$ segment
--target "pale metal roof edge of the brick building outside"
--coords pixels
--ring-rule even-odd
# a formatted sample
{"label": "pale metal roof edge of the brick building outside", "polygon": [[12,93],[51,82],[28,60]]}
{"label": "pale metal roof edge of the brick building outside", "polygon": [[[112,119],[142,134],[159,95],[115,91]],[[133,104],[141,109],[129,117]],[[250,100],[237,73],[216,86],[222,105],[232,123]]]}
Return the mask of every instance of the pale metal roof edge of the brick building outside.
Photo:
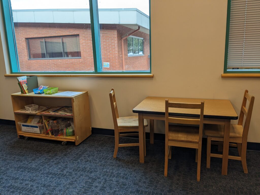
{"label": "pale metal roof edge of the brick building outside", "polygon": [[[14,22],[90,23],[89,9],[12,10]],[[136,8],[99,9],[101,24],[134,24],[149,29],[149,16]]]}

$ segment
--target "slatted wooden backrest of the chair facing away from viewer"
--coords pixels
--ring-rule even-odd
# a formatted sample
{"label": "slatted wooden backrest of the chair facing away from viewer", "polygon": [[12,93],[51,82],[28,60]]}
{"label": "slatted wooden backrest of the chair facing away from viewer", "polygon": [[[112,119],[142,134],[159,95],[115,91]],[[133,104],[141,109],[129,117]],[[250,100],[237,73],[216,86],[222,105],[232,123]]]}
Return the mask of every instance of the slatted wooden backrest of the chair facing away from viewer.
{"label": "slatted wooden backrest of the chair facing away from viewer", "polygon": [[[185,108],[185,109],[200,109],[199,119],[189,119],[189,118],[174,118],[169,116],[169,108]],[[168,99],[165,100],[165,136],[168,136],[169,122],[186,124],[186,125],[199,125],[199,143],[202,142],[202,132],[203,132],[203,115],[204,115],[204,101],[200,103],[180,103],[180,102],[169,102]]]}

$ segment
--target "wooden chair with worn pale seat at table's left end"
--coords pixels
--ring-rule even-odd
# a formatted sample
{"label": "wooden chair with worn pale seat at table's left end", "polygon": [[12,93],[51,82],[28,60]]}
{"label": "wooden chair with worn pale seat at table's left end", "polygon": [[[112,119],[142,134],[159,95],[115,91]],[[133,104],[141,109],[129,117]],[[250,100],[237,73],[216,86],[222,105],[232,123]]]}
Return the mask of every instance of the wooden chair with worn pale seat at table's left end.
{"label": "wooden chair with worn pale seat at table's left end", "polygon": [[[114,129],[115,129],[115,151],[114,151],[114,158],[116,158],[116,154],[118,152],[118,147],[126,147],[126,146],[139,146],[139,143],[131,143],[131,144],[119,144],[119,137],[122,136],[136,136],[139,133],[125,133],[125,132],[139,132],[138,129],[138,116],[126,116],[126,117],[119,117],[116,99],[115,99],[115,90],[114,88],[111,89],[112,91],[109,93],[110,97],[110,104],[112,109],[112,116],[114,121]],[[147,120],[144,119],[144,146],[145,146],[145,127],[147,127]],[[123,134],[120,134],[123,132]],[[145,147],[145,155],[146,155],[146,147]]]}

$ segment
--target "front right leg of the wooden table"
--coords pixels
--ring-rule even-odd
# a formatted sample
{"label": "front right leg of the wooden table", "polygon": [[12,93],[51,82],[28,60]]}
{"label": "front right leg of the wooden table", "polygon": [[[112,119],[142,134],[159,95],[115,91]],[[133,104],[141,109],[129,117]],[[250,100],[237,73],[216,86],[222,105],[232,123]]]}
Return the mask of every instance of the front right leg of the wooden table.
{"label": "front right leg of the wooden table", "polygon": [[226,120],[224,126],[222,175],[228,174],[229,132],[230,132],[230,120]]}

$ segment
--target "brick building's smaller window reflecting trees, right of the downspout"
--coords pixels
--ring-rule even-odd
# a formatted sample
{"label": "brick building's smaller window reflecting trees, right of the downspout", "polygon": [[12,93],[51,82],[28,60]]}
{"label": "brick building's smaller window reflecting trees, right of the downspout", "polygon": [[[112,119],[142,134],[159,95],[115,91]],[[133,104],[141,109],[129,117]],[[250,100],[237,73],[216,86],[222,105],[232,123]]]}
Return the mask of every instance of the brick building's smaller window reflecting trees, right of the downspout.
{"label": "brick building's smaller window reflecting trees, right of the downspout", "polygon": [[144,55],[144,38],[129,36],[127,37],[128,56]]}

